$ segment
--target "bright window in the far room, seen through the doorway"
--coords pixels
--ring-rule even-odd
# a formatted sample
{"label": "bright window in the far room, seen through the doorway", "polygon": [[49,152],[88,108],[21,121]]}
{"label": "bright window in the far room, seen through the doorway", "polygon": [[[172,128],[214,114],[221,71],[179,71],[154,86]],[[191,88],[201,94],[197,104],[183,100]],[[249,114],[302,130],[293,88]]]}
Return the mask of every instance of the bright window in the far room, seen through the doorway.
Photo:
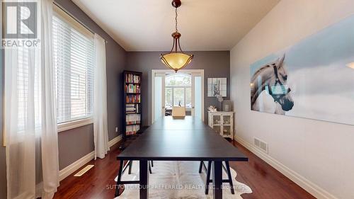
{"label": "bright window in the far room, seen through the doorway", "polygon": [[170,74],[166,76],[166,108],[172,106],[185,106],[192,108],[190,74]]}

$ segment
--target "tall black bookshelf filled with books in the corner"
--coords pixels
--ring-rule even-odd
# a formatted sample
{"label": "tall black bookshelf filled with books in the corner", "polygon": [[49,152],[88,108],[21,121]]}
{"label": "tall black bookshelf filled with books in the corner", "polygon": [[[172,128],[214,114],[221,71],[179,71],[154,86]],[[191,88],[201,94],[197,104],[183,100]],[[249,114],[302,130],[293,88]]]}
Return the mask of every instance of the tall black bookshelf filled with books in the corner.
{"label": "tall black bookshelf filled with books in the corner", "polygon": [[142,73],[123,72],[123,141],[134,137],[142,129]]}

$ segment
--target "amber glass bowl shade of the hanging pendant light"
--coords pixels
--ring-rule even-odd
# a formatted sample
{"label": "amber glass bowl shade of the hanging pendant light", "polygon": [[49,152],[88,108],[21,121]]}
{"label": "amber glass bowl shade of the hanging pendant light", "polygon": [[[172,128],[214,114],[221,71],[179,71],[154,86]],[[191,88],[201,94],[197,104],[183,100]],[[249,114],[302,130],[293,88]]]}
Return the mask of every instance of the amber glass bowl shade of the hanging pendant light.
{"label": "amber glass bowl shade of the hanging pendant light", "polygon": [[193,55],[186,55],[184,53],[172,52],[166,55],[161,55],[161,62],[177,72],[190,63]]}

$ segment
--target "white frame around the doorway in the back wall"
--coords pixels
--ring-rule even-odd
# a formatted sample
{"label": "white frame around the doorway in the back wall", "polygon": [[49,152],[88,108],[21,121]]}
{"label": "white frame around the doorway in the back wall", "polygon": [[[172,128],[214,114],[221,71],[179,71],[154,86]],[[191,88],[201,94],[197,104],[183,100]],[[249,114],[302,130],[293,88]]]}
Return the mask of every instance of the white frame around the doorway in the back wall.
{"label": "white frame around the doorway in the back wall", "polygon": [[[169,70],[169,69],[152,69],[152,123],[154,123],[154,115],[155,115],[155,76],[156,74],[173,74],[174,71],[173,70]],[[187,73],[187,74],[200,74],[200,76],[202,77],[202,121],[204,122],[204,101],[205,101],[205,96],[204,96],[204,69],[181,69],[178,70],[177,73]],[[192,80],[194,81],[194,80]],[[162,84],[165,84],[165,82],[163,82]],[[192,88],[194,89],[194,88]],[[164,93],[164,92],[163,92]],[[163,96],[164,98],[164,96]],[[164,101],[163,101],[164,103]],[[194,106],[194,102],[193,102],[193,106]]]}

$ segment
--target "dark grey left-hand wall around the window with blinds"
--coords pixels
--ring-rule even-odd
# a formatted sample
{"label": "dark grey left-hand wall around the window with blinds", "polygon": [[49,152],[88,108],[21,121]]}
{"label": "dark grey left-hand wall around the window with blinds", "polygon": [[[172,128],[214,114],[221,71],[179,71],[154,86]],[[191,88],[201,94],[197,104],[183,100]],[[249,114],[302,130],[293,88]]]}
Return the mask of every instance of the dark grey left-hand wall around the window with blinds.
{"label": "dark grey left-hand wall around the window with blinds", "polygon": [[[70,0],[55,0],[67,9],[81,23],[87,25],[93,32],[98,33],[106,43],[107,61],[107,109],[108,109],[108,137],[112,140],[122,130],[122,112],[120,105],[122,97],[122,71],[125,67],[126,52],[110,35],[105,33],[94,21]],[[115,132],[118,127],[118,133]],[[79,127],[65,132],[59,132],[59,169],[64,169],[74,161],[93,151],[93,127]]]}

